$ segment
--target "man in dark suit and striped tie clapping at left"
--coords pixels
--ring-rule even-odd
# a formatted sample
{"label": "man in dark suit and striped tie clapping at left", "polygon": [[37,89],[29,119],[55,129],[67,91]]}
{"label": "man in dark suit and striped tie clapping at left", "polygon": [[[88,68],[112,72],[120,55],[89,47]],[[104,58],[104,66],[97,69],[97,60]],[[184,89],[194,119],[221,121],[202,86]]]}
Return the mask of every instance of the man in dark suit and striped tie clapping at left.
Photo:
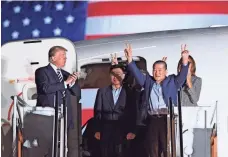
{"label": "man in dark suit and striped tie clapping at left", "polygon": [[[76,157],[76,139],[77,134],[75,134],[76,126],[74,126],[73,113],[76,114],[76,111],[73,112],[71,106],[71,95],[80,96],[79,85],[75,82],[78,77],[78,73],[70,74],[62,68],[66,63],[66,49],[61,46],[54,46],[49,50],[49,64],[45,67],[38,68],[35,72],[35,83],[37,86],[37,106],[41,107],[54,107],[55,105],[55,95],[56,92],[59,94],[59,105],[63,104],[63,98],[67,102],[67,133],[68,133],[68,156]],[[34,115],[32,115],[34,116]],[[47,124],[46,128],[44,127],[45,116],[35,115],[34,125],[36,124],[36,130],[27,131],[27,134],[36,135],[38,138],[37,147],[28,149],[30,152],[28,156],[50,156],[52,150],[52,130],[49,126],[53,124]],[[47,119],[47,118],[46,118]],[[53,122],[53,120],[52,120]],[[25,122],[26,125],[29,125],[29,121]],[[42,125],[43,124],[43,125]],[[34,128],[34,127],[33,127]],[[30,128],[32,129],[32,128]],[[46,130],[45,129],[49,129]],[[32,137],[30,135],[30,137]]]}

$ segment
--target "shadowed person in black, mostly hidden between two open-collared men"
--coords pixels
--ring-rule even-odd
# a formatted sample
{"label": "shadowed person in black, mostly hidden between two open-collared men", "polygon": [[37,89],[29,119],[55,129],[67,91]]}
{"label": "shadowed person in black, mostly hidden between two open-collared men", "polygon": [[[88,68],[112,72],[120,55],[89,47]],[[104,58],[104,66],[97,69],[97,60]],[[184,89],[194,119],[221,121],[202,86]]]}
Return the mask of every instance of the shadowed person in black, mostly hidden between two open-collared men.
{"label": "shadowed person in black, mostly hidden between two open-collared men", "polygon": [[[111,55],[112,58],[112,65],[118,64],[117,55]],[[126,65],[125,65],[126,66]],[[137,65],[140,67],[140,65]],[[140,69],[143,73],[145,71]],[[125,116],[124,119],[126,124],[128,124],[127,132],[131,132],[135,138],[133,140],[127,140],[124,144],[124,157],[145,157],[143,151],[143,127],[141,126],[141,122],[137,121],[138,109],[139,104],[141,101],[141,93],[142,87],[136,82],[134,76],[131,74],[130,71],[126,71],[126,76],[123,80],[123,87],[126,90],[126,107],[125,107]],[[137,134],[137,136],[136,136]],[[128,139],[128,137],[127,137]]]}

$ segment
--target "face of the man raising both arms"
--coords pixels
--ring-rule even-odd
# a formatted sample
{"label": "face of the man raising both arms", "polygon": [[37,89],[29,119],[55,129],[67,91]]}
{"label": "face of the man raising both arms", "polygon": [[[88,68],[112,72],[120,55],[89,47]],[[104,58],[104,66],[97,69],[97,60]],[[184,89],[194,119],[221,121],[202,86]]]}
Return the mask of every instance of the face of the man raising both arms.
{"label": "face of the man raising both arms", "polygon": [[161,82],[165,79],[167,74],[167,70],[165,69],[165,65],[162,63],[155,64],[153,69],[153,77],[157,82]]}

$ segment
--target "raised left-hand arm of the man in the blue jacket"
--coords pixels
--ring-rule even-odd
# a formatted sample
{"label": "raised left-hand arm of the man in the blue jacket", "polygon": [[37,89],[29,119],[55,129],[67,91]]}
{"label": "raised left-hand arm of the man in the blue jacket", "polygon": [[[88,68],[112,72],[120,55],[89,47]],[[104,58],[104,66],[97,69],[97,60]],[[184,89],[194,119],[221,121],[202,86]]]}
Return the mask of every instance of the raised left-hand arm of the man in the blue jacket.
{"label": "raised left-hand arm of the man in the blue jacket", "polygon": [[146,76],[143,75],[143,73],[138,69],[135,62],[133,61],[132,48],[130,44],[126,44],[126,49],[124,50],[124,52],[128,62],[128,70],[133,74],[138,84],[143,87],[146,81]]}

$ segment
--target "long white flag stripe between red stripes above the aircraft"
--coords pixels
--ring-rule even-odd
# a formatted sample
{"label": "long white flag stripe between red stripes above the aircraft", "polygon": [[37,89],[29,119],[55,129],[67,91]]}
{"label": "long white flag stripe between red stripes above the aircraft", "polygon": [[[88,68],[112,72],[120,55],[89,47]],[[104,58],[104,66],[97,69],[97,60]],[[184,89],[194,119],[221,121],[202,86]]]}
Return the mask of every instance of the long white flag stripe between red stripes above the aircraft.
{"label": "long white flag stripe between red stripes above the aircraft", "polygon": [[228,15],[127,15],[88,17],[86,35],[130,34],[228,25]]}

